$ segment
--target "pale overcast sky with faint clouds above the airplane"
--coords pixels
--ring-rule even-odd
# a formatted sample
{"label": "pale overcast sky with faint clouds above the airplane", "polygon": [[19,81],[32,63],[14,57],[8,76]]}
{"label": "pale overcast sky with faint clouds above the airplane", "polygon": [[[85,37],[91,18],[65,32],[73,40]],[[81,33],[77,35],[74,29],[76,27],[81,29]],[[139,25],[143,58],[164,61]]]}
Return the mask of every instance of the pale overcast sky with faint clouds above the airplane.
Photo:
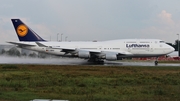
{"label": "pale overcast sky with faint clouds above the airplane", "polygon": [[70,41],[153,38],[174,43],[180,0],[0,0],[0,44],[18,41],[19,18],[43,39]]}

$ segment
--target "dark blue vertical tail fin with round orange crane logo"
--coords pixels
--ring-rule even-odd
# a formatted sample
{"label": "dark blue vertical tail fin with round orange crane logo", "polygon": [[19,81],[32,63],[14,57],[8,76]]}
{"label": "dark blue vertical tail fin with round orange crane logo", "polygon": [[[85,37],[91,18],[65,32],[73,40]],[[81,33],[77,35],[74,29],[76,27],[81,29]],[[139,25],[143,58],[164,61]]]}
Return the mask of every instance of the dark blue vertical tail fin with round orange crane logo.
{"label": "dark blue vertical tail fin with round orange crane logo", "polygon": [[11,19],[19,41],[45,41],[20,19]]}

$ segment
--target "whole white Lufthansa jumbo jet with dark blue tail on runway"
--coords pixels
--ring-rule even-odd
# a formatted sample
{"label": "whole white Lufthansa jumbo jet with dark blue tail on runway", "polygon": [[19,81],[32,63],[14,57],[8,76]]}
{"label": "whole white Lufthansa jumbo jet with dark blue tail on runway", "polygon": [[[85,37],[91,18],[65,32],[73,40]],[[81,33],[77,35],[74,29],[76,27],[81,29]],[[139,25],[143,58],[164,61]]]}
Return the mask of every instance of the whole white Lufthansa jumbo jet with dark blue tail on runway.
{"label": "whole white Lufthansa jumbo jet with dark blue tail on runway", "polygon": [[[20,19],[12,19],[18,42],[8,42],[19,48],[62,57],[78,57],[94,63],[132,57],[159,57],[174,48],[159,39],[119,39],[101,42],[49,42],[41,38]],[[157,59],[155,65],[158,64]]]}

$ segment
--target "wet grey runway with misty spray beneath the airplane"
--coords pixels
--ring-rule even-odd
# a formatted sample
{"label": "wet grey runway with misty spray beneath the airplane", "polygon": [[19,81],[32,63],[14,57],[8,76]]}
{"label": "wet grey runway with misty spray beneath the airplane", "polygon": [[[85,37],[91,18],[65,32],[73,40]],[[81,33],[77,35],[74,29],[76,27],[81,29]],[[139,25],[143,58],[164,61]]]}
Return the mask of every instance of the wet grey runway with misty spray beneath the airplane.
{"label": "wet grey runway with misty spray beneath the airplane", "polygon": [[[25,58],[0,56],[0,64],[44,64],[44,65],[95,65],[78,58]],[[155,66],[154,62],[105,61],[104,66]],[[159,63],[158,66],[180,66],[177,63]]]}

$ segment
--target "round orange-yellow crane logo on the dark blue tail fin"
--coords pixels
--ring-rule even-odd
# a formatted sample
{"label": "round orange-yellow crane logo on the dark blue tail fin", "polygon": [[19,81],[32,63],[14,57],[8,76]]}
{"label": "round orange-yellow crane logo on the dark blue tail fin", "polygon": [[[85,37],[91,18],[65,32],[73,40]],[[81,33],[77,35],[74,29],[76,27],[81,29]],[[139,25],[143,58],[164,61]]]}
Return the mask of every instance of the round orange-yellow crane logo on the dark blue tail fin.
{"label": "round orange-yellow crane logo on the dark blue tail fin", "polygon": [[26,25],[22,24],[17,27],[17,33],[19,36],[24,37],[27,34],[27,32],[28,28],[26,27]]}

